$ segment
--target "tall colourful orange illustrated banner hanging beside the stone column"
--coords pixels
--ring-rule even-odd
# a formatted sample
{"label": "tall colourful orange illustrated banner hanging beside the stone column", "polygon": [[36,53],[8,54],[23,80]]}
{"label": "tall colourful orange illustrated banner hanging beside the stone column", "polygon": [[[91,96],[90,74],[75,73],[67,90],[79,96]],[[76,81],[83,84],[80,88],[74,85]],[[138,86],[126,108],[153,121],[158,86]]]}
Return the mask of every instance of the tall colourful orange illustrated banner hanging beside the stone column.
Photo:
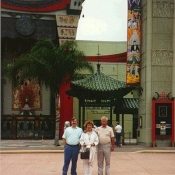
{"label": "tall colourful orange illustrated banner hanging beside the stone column", "polygon": [[140,82],[141,0],[128,0],[126,83]]}

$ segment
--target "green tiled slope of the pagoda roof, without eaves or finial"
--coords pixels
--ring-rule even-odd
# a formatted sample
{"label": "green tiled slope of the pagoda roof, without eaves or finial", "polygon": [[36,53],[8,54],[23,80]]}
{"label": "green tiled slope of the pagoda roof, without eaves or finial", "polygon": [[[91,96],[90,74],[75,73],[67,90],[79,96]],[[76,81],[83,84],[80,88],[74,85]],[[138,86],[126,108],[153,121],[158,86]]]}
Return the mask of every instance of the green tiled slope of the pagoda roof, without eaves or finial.
{"label": "green tiled slope of the pagoda roof, without eaves or finial", "polygon": [[82,89],[99,92],[116,91],[126,87],[125,82],[111,78],[102,72],[97,72],[82,80],[72,81],[71,84]]}

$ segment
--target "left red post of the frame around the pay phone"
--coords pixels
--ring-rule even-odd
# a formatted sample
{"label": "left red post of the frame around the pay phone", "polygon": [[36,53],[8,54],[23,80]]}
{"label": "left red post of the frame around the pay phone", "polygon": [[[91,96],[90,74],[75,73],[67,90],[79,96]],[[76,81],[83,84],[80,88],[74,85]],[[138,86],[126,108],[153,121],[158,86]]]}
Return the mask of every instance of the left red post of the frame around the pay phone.
{"label": "left red post of the frame around the pay phone", "polygon": [[156,112],[155,112],[155,101],[152,101],[152,146],[156,146]]}

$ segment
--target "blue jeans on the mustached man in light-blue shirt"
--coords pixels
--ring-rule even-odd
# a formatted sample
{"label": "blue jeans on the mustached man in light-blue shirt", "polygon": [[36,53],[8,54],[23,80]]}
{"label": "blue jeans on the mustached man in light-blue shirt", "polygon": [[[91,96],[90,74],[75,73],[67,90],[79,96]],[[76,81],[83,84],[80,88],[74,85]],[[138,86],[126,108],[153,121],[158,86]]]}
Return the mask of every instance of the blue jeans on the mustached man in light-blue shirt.
{"label": "blue jeans on the mustached man in light-blue shirt", "polygon": [[70,161],[72,161],[71,175],[77,175],[77,160],[78,160],[79,146],[65,145],[64,147],[64,166],[62,175],[67,175]]}

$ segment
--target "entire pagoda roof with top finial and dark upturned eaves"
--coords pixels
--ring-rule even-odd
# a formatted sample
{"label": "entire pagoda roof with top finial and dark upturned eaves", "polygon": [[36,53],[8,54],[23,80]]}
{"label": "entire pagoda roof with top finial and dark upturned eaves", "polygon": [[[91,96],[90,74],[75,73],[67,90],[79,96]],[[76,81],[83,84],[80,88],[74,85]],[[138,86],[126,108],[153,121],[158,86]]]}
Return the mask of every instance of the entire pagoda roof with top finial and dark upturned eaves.
{"label": "entire pagoda roof with top finial and dark upturned eaves", "polygon": [[78,99],[109,99],[111,104],[120,100],[131,92],[135,87],[127,85],[124,81],[119,81],[102,72],[100,72],[100,64],[97,64],[97,72],[87,78],[71,81],[71,89],[66,93]]}

